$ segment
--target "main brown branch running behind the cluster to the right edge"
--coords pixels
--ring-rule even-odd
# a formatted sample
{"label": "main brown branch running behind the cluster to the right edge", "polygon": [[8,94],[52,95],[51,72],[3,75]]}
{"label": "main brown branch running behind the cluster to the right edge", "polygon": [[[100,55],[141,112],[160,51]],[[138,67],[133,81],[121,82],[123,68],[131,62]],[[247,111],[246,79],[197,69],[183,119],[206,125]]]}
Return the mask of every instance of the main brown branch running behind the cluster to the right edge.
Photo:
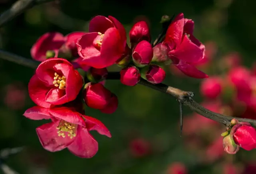
{"label": "main brown branch running behind the cluster to the right edge", "polygon": [[[36,68],[38,66],[38,62],[35,60],[26,59],[24,57],[17,56],[15,54],[12,54],[12,53],[9,53],[6,51],[2,51],[2,50],[0,50],[0,58],[8,60],[10,62],[20,64],[20,65],[24,65],[26,67]],[[120,79],[120,73],[119,72],[109,72],[107,79],[113,79],[113,80]],[[162,83],[151,84],[144,79],[141,79],[139,84],[142,84],[146,87],[150,87],[154,90],[158,90],[162,93],[172,95],[174,98],[177,99],[177,101],[179,101],[180,103],[182,103],[185,106],[188,106],[192,111],[195,111],[198,114],[200,114],[206,118],[209,118],[211,120],[223,123],[225,126],[228,126],[230,124],[230,121],[233,118],[236,118],[236,117],[221,115],[219,113],[212,112],[212,111],[204,108],[203,106],[201,106],[200,104],[198,104],[196,101],[194,101],[192,99],[192,97],[194,95],[192,92],[183,91],[183,90],[177,89],[175,87],[167,86],[166,84],[162,84]],[[236,119],[238,121],[245,121],[245,122],[251,123],[251,125],[253,127],[256,127],[256,120],[247,119],[247,118],[236,118]]]}

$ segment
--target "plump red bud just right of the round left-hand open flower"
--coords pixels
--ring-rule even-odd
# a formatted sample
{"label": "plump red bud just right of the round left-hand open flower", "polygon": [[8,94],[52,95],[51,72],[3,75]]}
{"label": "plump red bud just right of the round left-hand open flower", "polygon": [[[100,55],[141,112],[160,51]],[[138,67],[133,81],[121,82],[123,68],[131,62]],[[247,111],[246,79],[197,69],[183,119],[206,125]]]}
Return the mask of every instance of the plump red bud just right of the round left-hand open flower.
{"label": "plump red bud just right of the round left-hand open flower", "polygon": [[88,84],[84,91],[84,101],[88,107],[94,109],[104,109],[111,100],[111,92],[102,84]]}

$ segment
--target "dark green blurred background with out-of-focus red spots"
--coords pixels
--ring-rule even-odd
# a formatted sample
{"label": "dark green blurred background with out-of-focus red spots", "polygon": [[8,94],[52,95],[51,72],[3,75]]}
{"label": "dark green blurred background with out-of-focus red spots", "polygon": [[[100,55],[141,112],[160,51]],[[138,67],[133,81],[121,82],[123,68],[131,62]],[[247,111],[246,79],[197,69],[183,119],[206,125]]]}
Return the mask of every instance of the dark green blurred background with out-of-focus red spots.
{"label": "dark green blurred background with out-of-focus red spots", "polygon": [[[0,0],[0,12],[14,2]],[[252,67],[255,61],[255,6],[256,1],[252,0],[61,0],[30,8],[1,27],[0,49],[31,59],[30,48],[41,35],[49,31],[64,35],[87,31],[88,22],[96,15],[116,17],[127,33],[135,21],[146,20],[154,40],[161,30],[162,15],[183,12],[186,18],[194,20],[194,35],[207,48],[207,62],[198,67],[210,76],[225,79],[237,64]],[[109,70],[119,69],[113,66]],[[248,111],[245,108],[236,112],[237,105],[222,97],[202,97],[202,80],[187,78],[175,67],[166,66],[165,70],[165,84],[194,92],[195,100],[208,109],[236,116],[244,116]],[[24,147],[4,160],[20,174],[256,173],[255,150],[224,153],[220,136],[224,126],[184,108],[180,137],[179,108],[174,98],[141,85],[128,87],[118,80],[105,84],[119,98],[114,114],[86,110],[86,115],[102,121],[112,134],[112,138],[107,138],[92,132],[99,142],[96,156],[81,159],[67,149],[48,152],[35,132],[47,121],[23,117],[24,111],[35,105],[27,92],[33,73],[33,69],[0,59],[0,149]],[[250,118],[256,117],[254,113],[250,112]]]}

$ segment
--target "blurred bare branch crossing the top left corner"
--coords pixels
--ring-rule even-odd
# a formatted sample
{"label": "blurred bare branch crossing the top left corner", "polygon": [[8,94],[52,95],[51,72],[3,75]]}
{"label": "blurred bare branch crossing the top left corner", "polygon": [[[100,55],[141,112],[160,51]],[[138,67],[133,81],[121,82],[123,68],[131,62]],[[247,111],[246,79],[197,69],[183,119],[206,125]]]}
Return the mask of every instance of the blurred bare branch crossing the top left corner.
{"label": "blurred bare branch crossing the top left corner", "polygon": [[41,3],[47,3],[53,0],[18,0],[16,1],[11,8],[4,11],[0,15],[0,27],[2,27],[6,22],[9,22],[19,14],[21,14],[26,9],[32,8]]}

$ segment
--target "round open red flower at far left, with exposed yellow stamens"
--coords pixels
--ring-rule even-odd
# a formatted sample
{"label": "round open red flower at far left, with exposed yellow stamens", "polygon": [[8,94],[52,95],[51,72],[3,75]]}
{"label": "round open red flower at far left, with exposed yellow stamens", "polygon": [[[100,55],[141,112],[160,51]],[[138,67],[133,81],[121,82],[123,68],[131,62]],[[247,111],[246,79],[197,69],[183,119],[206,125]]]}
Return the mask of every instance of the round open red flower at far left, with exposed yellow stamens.
{"label": "round open red flower at far left, with exposed yellow stamens", "polygon": [[83,80],[66,59],[51,58],[42,62],[29,81],[29,96],[41,107],[73,101]]}

